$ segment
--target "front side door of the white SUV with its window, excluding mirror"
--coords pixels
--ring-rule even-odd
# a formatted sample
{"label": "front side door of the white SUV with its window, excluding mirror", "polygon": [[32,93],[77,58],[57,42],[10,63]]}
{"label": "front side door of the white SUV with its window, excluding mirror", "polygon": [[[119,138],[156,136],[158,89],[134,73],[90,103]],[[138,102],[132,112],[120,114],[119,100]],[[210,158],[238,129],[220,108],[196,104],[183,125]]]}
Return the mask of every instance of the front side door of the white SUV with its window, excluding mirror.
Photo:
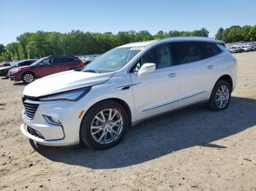
{"label": "front side door of the white SUV with its window, excluding mirror", "polygon": [[[155,63],[157,69],[138,76],[144,63]],[[176,109],[179,102],[178,66],[173,66],[170,44],[162,44],[149,50],[131,71],[132,90],[138,119]]]}

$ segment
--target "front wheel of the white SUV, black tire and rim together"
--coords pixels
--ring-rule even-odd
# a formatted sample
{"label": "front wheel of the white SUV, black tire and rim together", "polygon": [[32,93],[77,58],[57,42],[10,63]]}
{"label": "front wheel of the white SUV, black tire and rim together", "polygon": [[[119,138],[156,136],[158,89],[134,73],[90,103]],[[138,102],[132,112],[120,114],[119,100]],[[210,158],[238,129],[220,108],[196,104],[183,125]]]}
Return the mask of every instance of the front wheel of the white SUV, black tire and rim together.
{"label": "front wheel of the white SUV, black tire and rim together", "polygon": [[[112,120],[109,115],[110,118],[113,117]],[[80,140],[91,149],[108,149],[116,146],[124,138],[128,126],[128,115],[123,106],[115,101],[101,101],[92,106],[83,117]]]}

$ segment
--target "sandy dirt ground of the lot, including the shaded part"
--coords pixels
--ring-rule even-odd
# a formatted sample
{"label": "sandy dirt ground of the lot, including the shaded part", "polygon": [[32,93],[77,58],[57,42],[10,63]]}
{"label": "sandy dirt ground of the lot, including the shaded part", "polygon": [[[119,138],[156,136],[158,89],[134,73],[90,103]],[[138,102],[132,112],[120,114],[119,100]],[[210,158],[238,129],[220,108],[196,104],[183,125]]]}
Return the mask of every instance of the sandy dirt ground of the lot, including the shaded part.
{"label": "sandy dirt ground of the lot, including the shaded part", "polygon": [[117,147],[32,147],[20,133],[24,85],[0,79],[0,190],[256,190],[256,52],[236,54],[230,107],[147,120]]}

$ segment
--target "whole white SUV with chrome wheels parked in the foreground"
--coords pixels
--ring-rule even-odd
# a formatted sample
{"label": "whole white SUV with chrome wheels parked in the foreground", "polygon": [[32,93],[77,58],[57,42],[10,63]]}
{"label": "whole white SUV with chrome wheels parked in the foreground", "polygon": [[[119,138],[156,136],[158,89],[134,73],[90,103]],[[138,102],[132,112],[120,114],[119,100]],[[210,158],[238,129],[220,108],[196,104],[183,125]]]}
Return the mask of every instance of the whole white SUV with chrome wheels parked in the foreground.
{"label": "whole white SUV with chrome wheels parked in the foreground", "polygon": [[118,144],[129,126],[173,109],[198,102],[214,111],[227,109],[236,75],[236,59],[214,39],[125,44],[84,69],[27,85],[20,129],[39,144],[82,141],[106,149]]}

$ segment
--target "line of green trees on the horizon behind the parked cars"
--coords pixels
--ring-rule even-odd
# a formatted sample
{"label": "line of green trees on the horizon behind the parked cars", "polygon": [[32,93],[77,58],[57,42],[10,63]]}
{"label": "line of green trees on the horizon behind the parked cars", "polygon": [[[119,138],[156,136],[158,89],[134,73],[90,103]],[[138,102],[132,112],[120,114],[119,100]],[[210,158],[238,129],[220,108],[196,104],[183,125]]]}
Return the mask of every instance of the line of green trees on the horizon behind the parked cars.
{"label": "line of green trees on the horizon behind the parked cars", "polygon": [[[7,44],[6,47],[0,44],[0,61],[42,58],[53,54],[102,54],[129,42],[163,39],[171,36],[208,37],[208,34],[209,31],[206,28],[195,31],[159,31],[154,35],[148,31],[119,31],[117,34],[83,31],[71,31],[64,34],[54,31],[28,32],[18,36],[17,42]],[[224,42],[256,40],[256,26],[231,26],[225,30],[219,28],[216,39],[221,39]]]}

